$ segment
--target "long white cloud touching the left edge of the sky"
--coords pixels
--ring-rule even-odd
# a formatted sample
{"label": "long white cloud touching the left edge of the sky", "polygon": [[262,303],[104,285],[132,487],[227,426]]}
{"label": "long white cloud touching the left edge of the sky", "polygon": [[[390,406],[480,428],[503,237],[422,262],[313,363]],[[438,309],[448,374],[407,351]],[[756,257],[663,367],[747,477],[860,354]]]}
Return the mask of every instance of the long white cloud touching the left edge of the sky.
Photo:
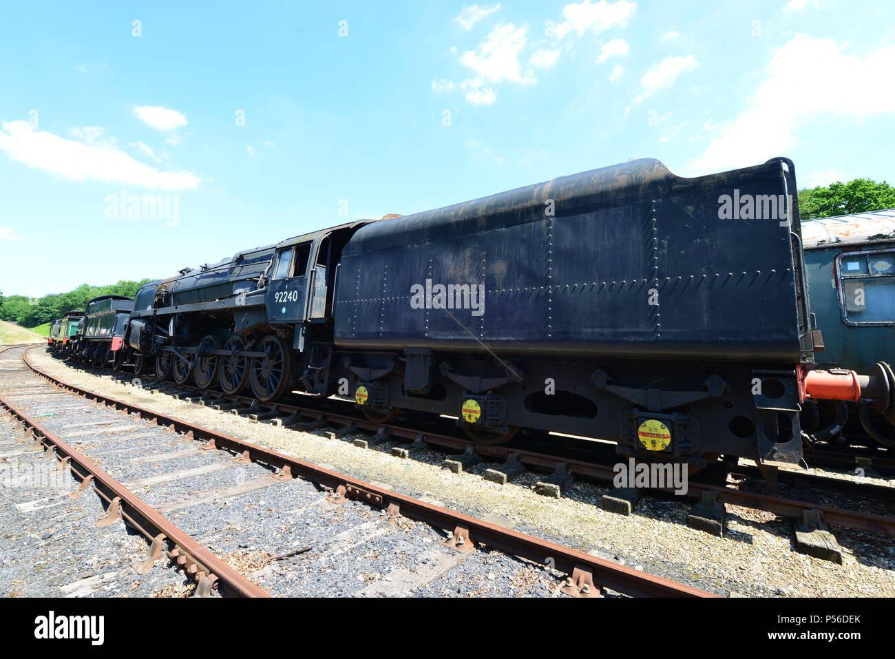
{"label": "long white cloud touching the left edge of the sky", "polygon": [[16,162],[69,181],[106,181],[162,190],[192,190],[200,178],[187,172],[161,172],[101,139],[98,126],[72,129],[84,141],[38,131],[28,121],[0,124],[0,150]]}

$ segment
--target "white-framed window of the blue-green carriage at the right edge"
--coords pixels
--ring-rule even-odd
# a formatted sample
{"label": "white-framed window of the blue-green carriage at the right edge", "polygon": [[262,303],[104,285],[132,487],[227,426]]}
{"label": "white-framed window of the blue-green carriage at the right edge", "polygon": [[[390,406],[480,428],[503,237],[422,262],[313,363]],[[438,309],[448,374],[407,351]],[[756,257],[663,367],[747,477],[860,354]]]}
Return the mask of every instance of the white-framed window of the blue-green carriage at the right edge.
{"label": "white-framed window of the blue-green carriage at the right edge", "polygon": [[840,290],[848,323],[895,324],[895,252],[840,257]]}

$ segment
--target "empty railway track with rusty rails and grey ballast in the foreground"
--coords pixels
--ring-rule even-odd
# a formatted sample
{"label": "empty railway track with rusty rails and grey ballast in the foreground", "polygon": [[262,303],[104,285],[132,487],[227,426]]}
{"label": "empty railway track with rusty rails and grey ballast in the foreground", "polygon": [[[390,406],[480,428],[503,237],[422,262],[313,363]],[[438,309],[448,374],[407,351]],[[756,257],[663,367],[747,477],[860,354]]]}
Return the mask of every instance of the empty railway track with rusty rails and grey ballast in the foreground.
{"label": "empty railway track with rusty rails and grey ballast in the foreground", "polygon": [[[47,461],[57,459],[58,468],[80,483],[78,496],[92,488],[107,503],[97,526],[124,521],[146,538],[141,569],[166,552],[196,580],[201,595],[431,595],[433,580],[444,577],[454,586],[452,575],[463,582],[456,594],[469,595],[476,593],[474,578],[485,572],[487,585],[515,583],[520,571],[531,577],[520,582],[529,586],[516,586],[526,595],[711,595],[209,428],[48,382],[28,364],[26,352],[0,352],[0,421],[25,441],[7,453],[43,451]],[[222,477],[225,485],[214,487]],[[234,536],[227,542],[217,528],[225,520],[214,514],[225,508],[231,515],[239,511],[240,520],[225,526],[224,534]],[[266,567],[254,569],[251,579],[218,555],[223,545],[240,546],[236,536],[245,548],[266,554]],[[358,566],[367,568],[363,583],[345,573]]]}

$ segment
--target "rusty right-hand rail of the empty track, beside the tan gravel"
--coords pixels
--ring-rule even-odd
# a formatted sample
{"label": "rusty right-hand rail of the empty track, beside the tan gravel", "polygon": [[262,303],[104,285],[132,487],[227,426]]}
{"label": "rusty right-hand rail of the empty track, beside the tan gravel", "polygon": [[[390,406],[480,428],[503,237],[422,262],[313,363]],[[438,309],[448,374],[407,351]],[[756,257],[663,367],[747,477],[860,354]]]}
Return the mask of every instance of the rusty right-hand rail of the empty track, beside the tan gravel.
{"label": "rusty right-hand rail of the empty track, beside the tan gravel", "polygon": [[177,432],[183,432],[193,440],[206,441],[209,448],[225,449],[236,454],[246,455],[254,462],[277,469],[282,477],[303,477],[324,485],[334,490],[337,497],[358,498],[379,508],[388,509],[392,516],[401,515],[422,521],[430,526],[451,531],[454,533],[455,538],[464,538],[466,542],[486,544],[501,552],[507,552],[542,565],[550,565],[571,575],[576,584],[593,583],[624,595],[641,597],[719,596],[693,586],[686,586],[670,579],[628,568],[612,561],[605,561],[557,543],[551,543],[503,526],[491,524],[455,510],[433,506],[350,476],[323,469],[320,466],[312,465],[298,458],[286,456],[275,450],[266,449],[222,432],[216,432],[209,428],[192,424],[174,416],[160,414],[133,403],[127,403],[95,391],[90,391],[89,389],[82,389],[81,387],[67,384],[52,375],[38,370],[30,363],[27,354],[22,355],[22,360],[31,371],[47,378],[48,381],[63,389],[78,393],[109,407],[115,407],[115,409],[136,413],[157,424],[166,425]]}

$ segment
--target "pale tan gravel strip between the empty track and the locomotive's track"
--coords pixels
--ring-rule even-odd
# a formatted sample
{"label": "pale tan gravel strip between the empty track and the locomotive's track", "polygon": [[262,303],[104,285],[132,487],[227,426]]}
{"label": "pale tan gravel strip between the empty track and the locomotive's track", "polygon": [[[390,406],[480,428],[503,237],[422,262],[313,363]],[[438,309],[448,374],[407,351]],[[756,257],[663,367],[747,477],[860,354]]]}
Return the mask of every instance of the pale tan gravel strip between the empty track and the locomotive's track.
{"label": "pale tan gravel strip between the empty track and the locomotive's track", "polygon": [[[599,507],[601,495],[609,492],[599,484],[575,482],[564,498],[548,499],[533,492],[539,475],[526,472],[501,486],[482,479],[482,471],[491,466],[487,463],[454,475],[440,468],[445,456],[438,451],[394,458],[390,447],[397,445],[395,442],[360,449],[351,441],[365,436],[361,433],[329,439],[325,431],[301,432],[254,423],[163,393],[153,395],[124,386],[108,375],[79,372],[39,350],[30,355],[47,372],[87,389],[131,399],[368,482],[391,484],[396,492],[429,496],[476,517],[500,514],[526,533],[721,595],[731,591],[805,597],[895,595],[895,549],[881,536],[834,527],[843,550],[843,564],[836,565],[796,552],[788,520],[760,510],[728,506],[728,533],[717,538],[686,526],[689,505],[684,502],[644,499],[634,515],[621,517]],[[823,496],[833,505],[842,505],[835,495]],[[488,574],[488,582],[498,580],[488,579]],[[476,592],[477,586],[470,578],[467,592]]]}

